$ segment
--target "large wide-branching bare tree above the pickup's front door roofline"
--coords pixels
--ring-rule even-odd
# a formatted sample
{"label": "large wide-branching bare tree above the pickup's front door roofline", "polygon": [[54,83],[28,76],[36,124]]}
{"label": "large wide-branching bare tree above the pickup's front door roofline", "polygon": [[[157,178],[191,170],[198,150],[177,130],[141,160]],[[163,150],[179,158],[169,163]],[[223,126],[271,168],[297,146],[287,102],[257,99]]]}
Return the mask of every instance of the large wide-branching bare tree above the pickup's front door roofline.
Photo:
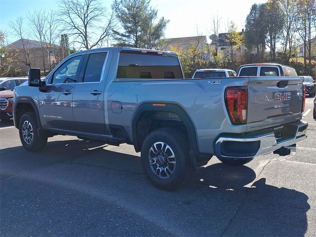
{"label": "large wide-branching bare tree above the pickup's front door roofline", "polygon": [[60,0],[58,6],[65,30],[79,48],[102,45],[112,34],[114,14],[107,14],[101,0]]}

